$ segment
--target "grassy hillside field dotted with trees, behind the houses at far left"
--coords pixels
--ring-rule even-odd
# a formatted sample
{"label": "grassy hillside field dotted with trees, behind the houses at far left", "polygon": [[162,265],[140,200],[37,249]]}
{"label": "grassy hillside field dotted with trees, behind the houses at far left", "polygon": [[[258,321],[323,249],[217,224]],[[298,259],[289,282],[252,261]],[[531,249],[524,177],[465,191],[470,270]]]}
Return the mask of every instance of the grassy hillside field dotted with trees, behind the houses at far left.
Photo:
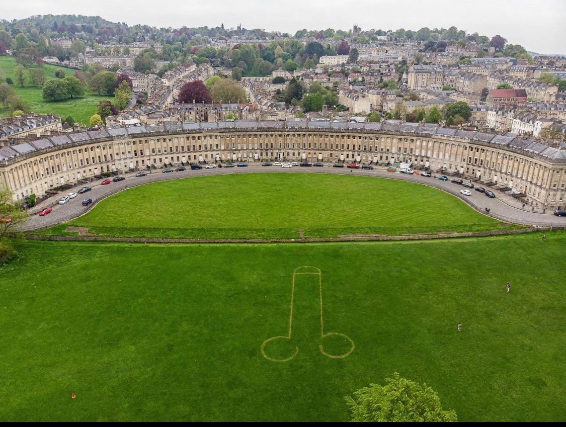
{"label": "grassy hillside field dotted with trees, behind the houses at far left", "polygon": [[[29,107],[34,113],[39,114],[58,114],[62,119],[65,119],[68,115],[71,115],[77,123],[87,124],[91,119],[91,116],[96,113],[96,106],[98,101],[102,99],[112,99],[107,96],[98,96],[90,93],[86,93],[82,98],[74,98],[66,101],[57,102],[46,102],[42,98],[42,89],[38,87],[31,87],[29,85],[20,85],[16,82],[14,77],[14,68],[18,64],[13,57],[0,57],[0,69],[2,69],[1,75],[2,83],[6,83],[6,77],[11,77],[14,80],[12,88],[16,93],[29,102]],[[37,66],[36,66],[37,67]],[[70,68],[58,67],[55,65],[44,64],[41,67],[45,70],[48,79],[55,78],[55,71],[63,70],[65,75],[72,76],[76,70],[71,70]],[[5,116],[6,111],[2,110],[0,106],[0,116]]]}

